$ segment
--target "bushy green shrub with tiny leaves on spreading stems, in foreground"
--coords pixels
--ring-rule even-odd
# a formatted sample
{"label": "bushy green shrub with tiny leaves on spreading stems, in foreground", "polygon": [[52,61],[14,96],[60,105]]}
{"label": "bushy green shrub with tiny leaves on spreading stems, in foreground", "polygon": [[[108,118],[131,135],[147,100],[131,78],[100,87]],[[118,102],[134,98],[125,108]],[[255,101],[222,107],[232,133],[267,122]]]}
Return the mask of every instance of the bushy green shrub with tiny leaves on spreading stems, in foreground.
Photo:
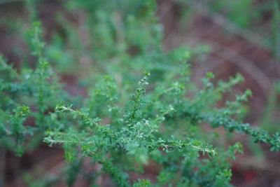
{"label": "bushy green shrub with tiny leaves on spreading stems, in foreground", "polygon": [[[223,108],[216,106],[225,92],[243,81],[239,74],[214,83],[214,74],[209,72],[202,78],[202,88],[196,88],[188,63],[195,55],[192,50],[181,47],[165,53],[154,1],[134,4],[134,12],[124,11],[123,20],[108,17],[112,9],[106,6],[103,11],[92,11],[91,21],[97,20],[98,25],[92,32],[102,39],[94,44],[102,48],[92,57],[102,73],[85,83],[87,99],[70,96],[59,83],[55,64],[51,66],[45,57],[39,22],[29,32],[29,46],[38,61],[35,69],[17,71],[0,58],[1,144],[17,155],[31,152],[42,142],[60,144],[69,162],[55,179],[33,181],[25,175],[30,186],[64,179],[73,186],[78,173],[82,174],[85,157],[102,165],[92,175],[109,174],[116,186],[229,186],[230,160],[242,153],[242,146],[218,146],[218,139],[210,139],[202,130],[205,123],[247,134],[255,142],[268,144],[271,151],[279,151],[279,132],[270,135],[239,121],[243,102],[252,96],[250,90],[225,102]],[[124,36],[114,21],[123,22]],[[94,86],[89,83],[92,80]],[[28,123],[31,120],[35,125]],[[160,168],[158,183],[130,180],[131,173],[143,173],[152,160]],[[92,176],[92,185],[95,179]]]}

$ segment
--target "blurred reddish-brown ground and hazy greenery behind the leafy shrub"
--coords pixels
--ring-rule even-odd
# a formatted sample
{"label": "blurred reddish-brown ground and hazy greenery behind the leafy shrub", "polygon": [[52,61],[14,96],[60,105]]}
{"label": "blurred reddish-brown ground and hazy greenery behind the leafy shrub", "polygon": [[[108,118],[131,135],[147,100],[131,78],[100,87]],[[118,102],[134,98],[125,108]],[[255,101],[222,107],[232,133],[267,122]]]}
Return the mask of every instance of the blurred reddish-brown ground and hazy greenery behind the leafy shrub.
{"label": "blurred reddish-brown ground and hazy greenery behind the leafy shrub", "polygon": [[[94,80],[87,77],[137,69],[137,55],[153,50],[156,43],[162,42],[166,52],[183,45],[195,54],[190,62],[194,83],[201,85],[207,71],[214,72],[216,80],[241,74],[245,81],[232,92],[253,91],[244,121],[280,131],[279,0],[158,0],[152,8],[146,4],[149,1],[0,0],[0,53],[17,69],[35,67],[28,31],[34,20],[40,20],[44,53],[64,89],[87,97],[84,85]],[[219,132],[226,133],[223,128]],[[244,154],[232,166],[234,186],[280,186],[279,153],[246,136],[225,137],[223,144],[244,145]],[[64,165],[59,146],[42,144],[22,158],[0,148],[5,186],[28,186],[31,179],[59,175]],[[146,170],[153,178],[154,167]],[[78,178],[75,185],[88,184]]]}

